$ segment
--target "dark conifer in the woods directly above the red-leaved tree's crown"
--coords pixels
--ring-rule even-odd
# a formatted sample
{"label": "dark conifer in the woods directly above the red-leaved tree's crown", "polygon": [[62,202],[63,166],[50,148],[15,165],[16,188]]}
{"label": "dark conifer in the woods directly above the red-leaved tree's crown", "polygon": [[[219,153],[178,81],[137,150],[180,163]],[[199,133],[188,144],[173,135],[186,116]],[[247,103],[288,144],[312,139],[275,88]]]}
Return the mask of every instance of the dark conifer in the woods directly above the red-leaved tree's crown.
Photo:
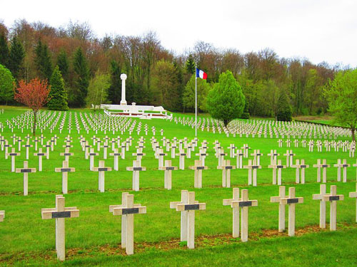
{"label": "dark conifer in the woods directly above the red-leaved tree's crown", "polygon": [[35,48],[35,53],[35,65],[39,73],[39,77],[43,80],[50,80],[53,71],[51,56],[49,55],[49,47],[46,43],[42,43],[41,40],[39,40],[39,43],[37,43]]}

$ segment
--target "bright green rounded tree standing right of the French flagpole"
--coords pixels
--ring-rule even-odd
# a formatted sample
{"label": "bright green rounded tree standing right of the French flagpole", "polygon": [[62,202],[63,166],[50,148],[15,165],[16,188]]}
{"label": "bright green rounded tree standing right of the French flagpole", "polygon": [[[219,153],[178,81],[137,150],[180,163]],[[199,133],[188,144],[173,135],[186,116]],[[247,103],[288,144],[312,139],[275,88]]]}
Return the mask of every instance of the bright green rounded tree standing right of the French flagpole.
{"label": "bright green rounded tree standing right of the French flagpole", "polygon": [[245,104],[246,98],[233,73],[229,70],[221,73],[218,83],[207,95],[207,109],[211,116],[223,120],[227,126],[242,114]]}

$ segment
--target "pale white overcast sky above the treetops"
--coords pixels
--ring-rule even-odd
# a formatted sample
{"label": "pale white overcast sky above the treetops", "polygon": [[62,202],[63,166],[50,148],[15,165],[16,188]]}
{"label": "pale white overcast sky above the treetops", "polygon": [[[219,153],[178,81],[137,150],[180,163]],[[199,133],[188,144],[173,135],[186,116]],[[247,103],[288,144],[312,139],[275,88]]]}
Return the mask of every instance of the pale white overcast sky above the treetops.
{"label": "pale white overcast sky above the treetops", "polygon": [[155,31],[176,53],[204,41],[241,53],[268,47],[280,57],[356,68],[356,11],[356,0],[2,0],[0,20],[6,26],[16,19],[54,27],[88,22],[99,38]]}

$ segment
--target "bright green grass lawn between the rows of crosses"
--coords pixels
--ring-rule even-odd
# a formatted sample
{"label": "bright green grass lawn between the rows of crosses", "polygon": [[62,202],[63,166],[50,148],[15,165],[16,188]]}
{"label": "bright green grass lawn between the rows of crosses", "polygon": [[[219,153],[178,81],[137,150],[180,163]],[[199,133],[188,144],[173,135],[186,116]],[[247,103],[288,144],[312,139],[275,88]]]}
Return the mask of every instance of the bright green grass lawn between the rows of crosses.
{"label": "bright green grass lawn between the rows of crosses", "polygon": [[[0,109],[3,107],[0,107]],[[0,114],[0,122],[7,125],[6,120],[24,113],[23,108],[4,107],[4,114]],[[87,112],[91,110],[71,110],[72,125],[74,125],[74,112]],[[64,115],[62,112],[61,119]],[[174,115],[176,116],[176,115]],[[185,115],[178,115],[185,116]],[[187,116],[186,116],[187,117]],[[69,113],[66,116],[64,129],[67,128]],[[172,139],[188,137],[192,140],[194,129],[188,125],[183,126],[166,120],[137,120],[142,123],[141,135],[145,137],[146,157],[142,159],[142,166],[146,172],[140,174],[140,191],[131,191],[132,172],[127,172],[127,166],[132,166],[136,157],[131,153],[136,152],[135,145],[139,140],[136,131],[132,132],[133,145],[126,152],[125,159],[119,159],[119,172],[106,172],[106,192],[98,191],[98,173],[89,170],[89,159],[84,159],[79,144],[79,136],[83,135],[92,145],[91,137],[96,135],[103,138],[116,137],[122,139],[129,137],[128,132],[123,135],[111,132],[86,132],[78,134],[71,132],[73,142],[69,159],[69,166],[75,167],[76,172],[69,173],[69,194],[66,194],[66,206],[77,206],[80,210],[79,218],[66,219],[66,262],[56,260],[55,247],[55,221],[42,220],[41,208],[55,206],[55,195],[61,194],[61,173],[54,172],[55,167],[61,167],[64,157],[59,154],[64,152],[64,137],[68,130],[61,134],[59,130],[50,133],[45,130],[45,140],[55,134],[59,136],[54,152],[50,152],[50,159],[44,159],[43,172],[29,174],[29,196],[22,195],[22,174],[11,173],[11,159],[4,159],[4,152],[0,151],[0,210],[6,211],[6,217],[0,223],[0,265],[1,266],[356,266],[356,248],[352,241],[357,237],[356,227],[356,200],[348,198],[348,192],[356,191],[356,167],[348,168],[348,182],[336,182],[336,168],[327,171],[327,191],[331,184],[337,185],[338,194],[344,194],[345,200],[338,202],[338,231],[318,231],[319,203],[312,199],[312,194],[319,192],[320,185],[316,183],[316,159],[327,159],[328,164],[334,164],[337,159],[347,159],[349,164],[356,163],[355,158],[349,158],[348,152],[308,152],[308,148],[301,145],[290,148],[296,154],[296,159],[305,159],[310,168],[306,169],[306,184],[295,184],[295,169],[283,169],[283,185],[296,187],[296,197],[303,197],[304,203],[296,205],[296,230],[300,233],[296,237],[288,237],[286,233],[278,234],[278,204],[270,203],[272,196],[278,195],[278,186],[272,185],[272,170],[267,166],[270,150],[278,150],[279,159],[283,164],[286,158],[285,143],[278,148],[275,138],[251,137],[226,137],[224,134],[213,134],[198,130],[199,145],[203,140],[208,142],[206,165],[208,170],[203,171],[203,188],[193,188],[193,171],[188,166],[193,165],[198,149],[192,152],[191,159],[185,160],[185,170],[177,170],[172,174],[172,190],[164,189],[164,172],[158,170],[158,159],[154,158],[150,139],[151,127],[156,127],[156,140],[161,142],[159,130],[164,129],[164,135]],[[80,122],[80,120],[79,120]],[[144,125],[148,125],[149,132],[145,135]],[[38,131],[39,132],[39,131]],[[1,135],[9,140],[12,145],[11,135],[19,135],[24,139],[31,130],[14,130],[4,128]],[[39,133],[40,135],[40,133]],[[218,159],[214,157],[213,142],[219,140],[221,145],[227,147],[234,143],[241,147],[248,144],[251,152],[259,149],[262,169],[258,169],[258,187],[248,187],[248,171],[235,169],[231,172],[231,187],[248,189],[249,199],[257,199],[258,206],[249,208],[249,241],[241,243],[239,239],[231,239],[232,211],[228,206],[222,206],[222,200],[232,197],[232,189],[221,187],[221,170],[216,169]],[[123,140],[122,140],[123,141]],[[33,143],[32,143],[33,144]],[[162,142],[161,142],[162,145]],[[17,145],[15,145],[17,150]],[[31,148],[29,167],[38,167],[38,159],[34,157],[34,147]],[[111,150],[109,150],[111,152]],[[178,150],[176,150],[178,152]],[[99,152],[103,159],[103,150]],[[109,152],[108,152],[109,153]],[[165,159],[171,159],[171,152],[167,152]],[[22,167],[25,159],[25,150],[22,148],[21,156],[16,157],[16,167]],[[251,159],[252,157],[249,157]],[[171,159],[173,166],[178,166],[178,157]],[[248,159],[243,159],[247,164]],[[236,164],[236,159],[231,159]],[[113,167],[113,157],[106,159],[106,166]],[[196,192],[196,200],[205,202],[206,211],[196,212],[196,249],[188,251],[180,245],[180,214],[169,208],[170,201],[179,201],[181,189]],[[134,256],[126,256],[120,247],[121,220],[120,216],[109,213],[109,205],[121,204],[121,193],[134,194],[134,203],[147,206],[147,214],[134,216]],[[327,220],[329,219],[329,205],[327,205]],[[287,211],[286,211],[287,215]],[[310,229],[310,230],[309,230]],[[313,230],[311,230],[313,229]]]}

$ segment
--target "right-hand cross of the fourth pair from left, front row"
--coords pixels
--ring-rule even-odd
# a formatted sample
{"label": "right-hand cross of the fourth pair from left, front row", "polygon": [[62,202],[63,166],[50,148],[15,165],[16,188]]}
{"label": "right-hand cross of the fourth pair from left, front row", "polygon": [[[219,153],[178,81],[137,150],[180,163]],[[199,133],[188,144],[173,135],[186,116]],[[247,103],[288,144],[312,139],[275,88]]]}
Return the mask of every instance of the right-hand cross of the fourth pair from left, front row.
{"label": "right-hand cross of the fourth pair from left, front row", "polygon": [[248,189],[241,191],[242,197],[238,201],[232,201],[231,207],[233,209],[241,208],[241,241],[248,241],[248,207],[258,206],[258,200],[248,199]]}

